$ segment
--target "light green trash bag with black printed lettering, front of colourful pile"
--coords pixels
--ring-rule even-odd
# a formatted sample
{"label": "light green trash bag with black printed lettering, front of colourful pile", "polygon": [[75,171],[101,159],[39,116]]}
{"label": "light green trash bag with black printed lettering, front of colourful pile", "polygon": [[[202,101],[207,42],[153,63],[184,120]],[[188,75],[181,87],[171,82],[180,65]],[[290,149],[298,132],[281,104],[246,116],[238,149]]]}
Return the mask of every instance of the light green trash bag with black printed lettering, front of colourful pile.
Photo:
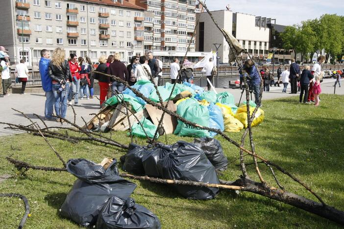
{"label": "light green trash bag with black printed lettering, front of colourful pile", "polygon": [[[204,127],[209,126],[209,110],[206,106],[200,104],[191,106],[186,110],[183,117],[188,121],[197,123],[198,125]],[[194,127],[189,124],[182,123],[178,136],[209,137],[210,134],[207,130],[203,130],[199,127]]]}

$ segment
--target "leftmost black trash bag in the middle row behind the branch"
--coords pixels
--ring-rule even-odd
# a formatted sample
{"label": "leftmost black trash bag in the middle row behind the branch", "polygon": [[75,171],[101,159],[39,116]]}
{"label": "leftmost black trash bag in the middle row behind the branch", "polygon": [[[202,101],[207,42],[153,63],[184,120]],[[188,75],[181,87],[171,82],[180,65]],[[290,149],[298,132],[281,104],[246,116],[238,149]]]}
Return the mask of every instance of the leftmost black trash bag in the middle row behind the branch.
{"label": "leftmost black trash bag in the middle row behind the branch", "polygon": [[145,169],[142,164],[142,157],[146,150],[146,147],[130,143],[128,152],[126,155],[121,157],[122,169],[136,175],[145,174]]}

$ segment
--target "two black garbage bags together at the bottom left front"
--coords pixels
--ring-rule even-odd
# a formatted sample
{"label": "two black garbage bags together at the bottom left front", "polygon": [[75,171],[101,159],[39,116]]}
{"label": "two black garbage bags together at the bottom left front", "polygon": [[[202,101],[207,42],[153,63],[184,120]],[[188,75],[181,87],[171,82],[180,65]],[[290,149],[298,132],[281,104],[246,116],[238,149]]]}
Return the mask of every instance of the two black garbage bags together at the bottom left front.
{"label": "two black garbage bags together at the bottom left front", "polygon": [[159,219],[135,204],[130,195],[136,184],[119,176],[117,161],[104,168],[85,159],[71,159],[67,170],[78,179],[61,206],[61,215],[98,229],[161,228]]}

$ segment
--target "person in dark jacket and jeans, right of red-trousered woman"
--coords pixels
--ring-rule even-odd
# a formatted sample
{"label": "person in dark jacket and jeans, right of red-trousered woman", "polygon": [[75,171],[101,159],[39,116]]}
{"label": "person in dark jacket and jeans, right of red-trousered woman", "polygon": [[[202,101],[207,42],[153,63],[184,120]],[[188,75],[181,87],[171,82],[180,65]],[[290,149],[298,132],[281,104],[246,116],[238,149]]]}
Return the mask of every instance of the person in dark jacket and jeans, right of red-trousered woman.
{"label": "person in dark jacket and jeans, right of red-trousered woman", "polygon": [[[110,64],[109,68],[107,69],[107,74],[115,75],[122,80],[128,82],[129,80],[129,73],[126,69],[125,65],[121,62],[121,54],[119,52],[115,52],[113,62]],[[117,82],[111,78],[111,91],[112,96],[115,94],[122,93],[124,89],[124,84]]]}

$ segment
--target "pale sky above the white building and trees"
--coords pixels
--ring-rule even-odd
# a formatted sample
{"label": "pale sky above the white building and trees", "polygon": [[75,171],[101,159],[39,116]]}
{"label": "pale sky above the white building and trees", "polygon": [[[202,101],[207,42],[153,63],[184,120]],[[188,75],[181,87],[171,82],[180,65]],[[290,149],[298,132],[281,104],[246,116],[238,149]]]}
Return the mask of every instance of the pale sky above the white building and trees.
{"label": "pale sky above the white building and trees", "polygon": [[276,19],[277,24],[292,25],[322,14],[344,15],[344,0],[206,0],[213,10],[226,9],[233,12],[253,14]]}

